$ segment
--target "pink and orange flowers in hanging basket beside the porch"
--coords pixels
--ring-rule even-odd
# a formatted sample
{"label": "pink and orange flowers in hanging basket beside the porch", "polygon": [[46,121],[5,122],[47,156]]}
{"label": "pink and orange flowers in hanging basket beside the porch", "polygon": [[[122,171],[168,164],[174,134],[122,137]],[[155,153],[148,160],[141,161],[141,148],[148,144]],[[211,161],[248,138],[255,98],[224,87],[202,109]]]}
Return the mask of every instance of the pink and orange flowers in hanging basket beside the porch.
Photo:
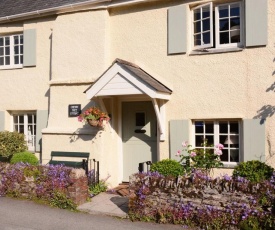
{"label": "pink and orange flowers in hanging basket beside the porch", "polygon": [[103,125],[103,121],[108,122],[110,117],[107,113],[101,111],[97,107],[90,107],[78,116],[78,121],[87,122],[88,120],[98,120],[99,126]]}

